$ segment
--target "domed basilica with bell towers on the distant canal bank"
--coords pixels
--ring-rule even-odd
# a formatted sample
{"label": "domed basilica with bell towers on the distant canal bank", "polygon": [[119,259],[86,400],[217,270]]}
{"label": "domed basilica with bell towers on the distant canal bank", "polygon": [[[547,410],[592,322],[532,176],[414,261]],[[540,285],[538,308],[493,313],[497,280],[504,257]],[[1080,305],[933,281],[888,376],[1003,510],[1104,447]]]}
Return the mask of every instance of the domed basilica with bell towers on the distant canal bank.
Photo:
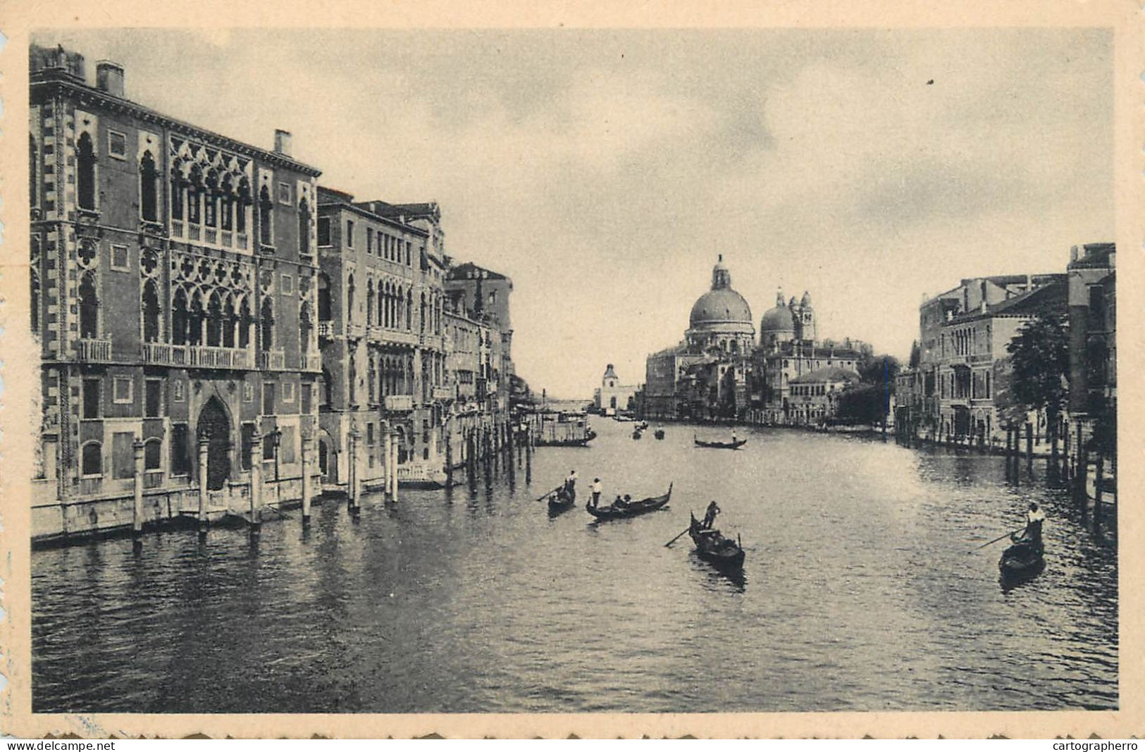
{"label": "domed basilica with bell towers on the distant canal bank", "polygon": [[869,349],[820,341],[807,292],[785,303],[777,293],[759,320],[757,342],[751,306],[733,290],[720,255],[711,288],[692,306],[684,340],[647,358],[645,415],[820,421],[830,417],[837,391],[858,379]]}

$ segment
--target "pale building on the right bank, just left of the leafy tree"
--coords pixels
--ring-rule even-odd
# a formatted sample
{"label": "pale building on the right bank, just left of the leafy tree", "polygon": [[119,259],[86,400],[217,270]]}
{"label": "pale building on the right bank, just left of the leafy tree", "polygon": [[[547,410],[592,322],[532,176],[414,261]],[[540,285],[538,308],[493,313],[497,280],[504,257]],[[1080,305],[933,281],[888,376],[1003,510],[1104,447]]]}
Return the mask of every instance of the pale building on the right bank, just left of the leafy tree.
{"label": "pale building on the right bank, just left of the leafy tree", "polygon": [[[963,279],[923,302],[918,365],[900,377],[911,389],[900,403],[914,404],[917,414],[899,418],[925,438],[1004,442],[1006,345],[1039,311],[1064,312],[1065,292],[1061,274],[1009,275]],[[1032,420],[1044,429],[1040,417]]]}

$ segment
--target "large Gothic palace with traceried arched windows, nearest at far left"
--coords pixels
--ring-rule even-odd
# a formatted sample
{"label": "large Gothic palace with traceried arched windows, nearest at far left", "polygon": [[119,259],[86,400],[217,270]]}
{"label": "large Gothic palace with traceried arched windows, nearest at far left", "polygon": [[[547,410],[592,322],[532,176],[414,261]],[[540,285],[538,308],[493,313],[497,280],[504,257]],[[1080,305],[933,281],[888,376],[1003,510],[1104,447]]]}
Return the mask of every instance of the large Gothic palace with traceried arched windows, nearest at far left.
{"label": "large Gothic palace with traceried arched windows, nearest at far left", "polygon": [[140,459],[149,521],[200,485],[212,513],[246,508],[252,462],[267,502],[298,499],[319,171],[285,130],[261,149],[133,102],[112,62],[93,84],[82,55],[32,46],[30,74],[33,537],[132,524]]}

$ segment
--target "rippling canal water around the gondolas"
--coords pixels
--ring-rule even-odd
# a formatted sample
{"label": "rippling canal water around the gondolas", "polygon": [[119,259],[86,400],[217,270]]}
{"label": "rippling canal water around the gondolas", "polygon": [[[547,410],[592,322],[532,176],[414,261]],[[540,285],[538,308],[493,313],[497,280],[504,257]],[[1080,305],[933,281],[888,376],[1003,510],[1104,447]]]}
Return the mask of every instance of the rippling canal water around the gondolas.
{"label": "rippling canal water around the gondolas", "polygon": [[[242,530],[35,552],[33,706],[118,712],[709,712],[1118,706],[1105,525],[998,458],[693,427],[538,449],[487,490],[409,491]],[[726,432],[696,428],[701,435]],[[576,468],[668,510],[590,524],[534,501]],[[585,491],[582,489],[582,491]],[[744,578],[698,560],[688,510],[739,532]],[[998,581],[1029,500],[1047,568]]]}

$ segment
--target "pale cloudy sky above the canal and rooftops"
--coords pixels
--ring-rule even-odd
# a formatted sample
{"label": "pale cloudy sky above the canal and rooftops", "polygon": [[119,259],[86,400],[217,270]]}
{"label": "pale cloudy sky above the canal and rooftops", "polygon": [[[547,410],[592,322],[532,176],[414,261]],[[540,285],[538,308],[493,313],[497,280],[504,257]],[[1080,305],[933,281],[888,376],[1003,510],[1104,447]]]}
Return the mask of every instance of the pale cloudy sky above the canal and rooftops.
{"label": "pale cloudy sky above the canal and rooftops", "polygon": [[[906,357],[924,294],[1063,270],[1113,239],[1101,30],[44,32],[129,97],[324,184],[436,200],[448,252],[513,278],[518,372],[643,380],[717,254],[759,317]],[[933,81],[930,84],[929,81]]]}

